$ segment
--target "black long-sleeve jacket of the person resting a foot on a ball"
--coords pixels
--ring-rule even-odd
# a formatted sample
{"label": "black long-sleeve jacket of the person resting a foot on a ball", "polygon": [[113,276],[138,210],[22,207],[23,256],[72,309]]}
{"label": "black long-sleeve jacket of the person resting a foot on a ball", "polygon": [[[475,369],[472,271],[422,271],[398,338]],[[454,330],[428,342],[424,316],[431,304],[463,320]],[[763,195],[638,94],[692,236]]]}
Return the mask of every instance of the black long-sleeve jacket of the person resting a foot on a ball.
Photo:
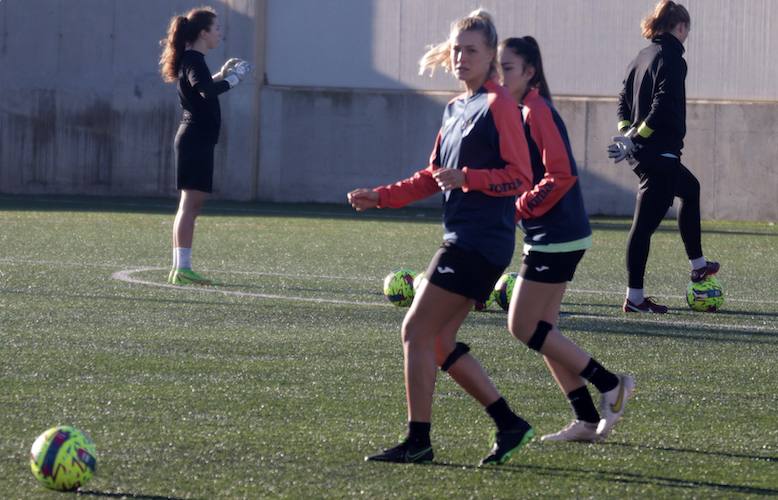
{"label": "black long-sleeve jacket of the person resting a foot on a ball", "polygon": [[643,148],[638,160],[648,155],[681,156],[686,135],[686,61],[683,44],[670,33],[651,40],[627,69],[619,93],[619,129],[638,128]]}

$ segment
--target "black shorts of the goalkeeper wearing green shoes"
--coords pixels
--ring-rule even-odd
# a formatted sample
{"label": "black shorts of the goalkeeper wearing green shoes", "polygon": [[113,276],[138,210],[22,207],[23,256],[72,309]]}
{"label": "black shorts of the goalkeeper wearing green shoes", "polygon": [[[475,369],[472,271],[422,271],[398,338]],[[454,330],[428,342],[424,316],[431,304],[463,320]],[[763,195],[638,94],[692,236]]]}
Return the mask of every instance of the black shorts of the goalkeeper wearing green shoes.
{"label": "black shorts of the goalkeeper wearing green shoes", "polygon": [[182,123],[176,134],[176,188],[213,191],[213,154],[216,144],[191,125]]}

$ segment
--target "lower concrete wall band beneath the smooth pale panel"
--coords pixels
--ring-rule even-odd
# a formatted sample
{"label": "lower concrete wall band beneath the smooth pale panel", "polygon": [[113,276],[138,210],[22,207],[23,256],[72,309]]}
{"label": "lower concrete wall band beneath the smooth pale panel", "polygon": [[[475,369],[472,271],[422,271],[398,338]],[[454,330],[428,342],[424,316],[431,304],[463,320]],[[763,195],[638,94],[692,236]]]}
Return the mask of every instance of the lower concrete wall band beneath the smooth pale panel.
{"label": "lower concrete wall band beneath the smooth pale panel", "polygon": [[[267,87],[262,93],[260,198],[342,202],[355,187],[423,168],[454,94]],[[591,214],[631,215],[637,177],[608,160],[614,99],[558,98]],[[684,164],[707,219],[778,219],[778,103],[692,102]],[[376,120],[381,116],[381,120]],[[422,205],[439,204],[433,197]]]}

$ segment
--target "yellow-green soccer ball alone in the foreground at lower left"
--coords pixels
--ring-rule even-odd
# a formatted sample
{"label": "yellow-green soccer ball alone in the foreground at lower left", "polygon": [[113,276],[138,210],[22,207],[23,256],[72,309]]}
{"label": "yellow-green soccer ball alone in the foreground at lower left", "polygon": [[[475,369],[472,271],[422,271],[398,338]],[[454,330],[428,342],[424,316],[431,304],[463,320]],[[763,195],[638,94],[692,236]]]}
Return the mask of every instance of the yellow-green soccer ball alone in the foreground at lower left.
{"label": "yellow-green soccer ball alone in the foreground at lower left", "polygon": [[53,427],[30,449],[32,475],[46,488],[73,491],[85,485],[95,472],[95,444],[74,427]]}

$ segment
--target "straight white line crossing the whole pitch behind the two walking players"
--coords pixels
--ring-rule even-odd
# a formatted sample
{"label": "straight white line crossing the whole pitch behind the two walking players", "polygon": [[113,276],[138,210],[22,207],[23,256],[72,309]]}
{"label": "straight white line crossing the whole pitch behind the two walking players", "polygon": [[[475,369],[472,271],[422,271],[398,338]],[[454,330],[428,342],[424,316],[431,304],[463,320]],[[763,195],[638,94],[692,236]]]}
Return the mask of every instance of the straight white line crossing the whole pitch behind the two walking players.
{"label": "straight white line crossing the whole pitch behind the two walking players", "polygon": [[[67,267],[102,267],[107,269],[115,269],[121,264],[108,264],[108,263],[85,263],[85,262],[60,262],[60,261],[47,261],[47,260],[35,260],[35,259],[16,259],[16,258],[0,258],[0,263],[7,262],[9,264],[34,264],[34,265],[50,265],[50,266],[67,266]],[[165,270],[162,267],[148,267],[144,268],[145,271],[153,270]],[[225,271],[222,269],[202,268],[204,273],[220,273],[220,274],[240,274],[246,276],[272,276],[276,278],[313,278],[313,279],[327,279],[327,280],[340,280],[340,281],[368,281],[368,280],[381,280],[380,277],[375,276],[332,276],[326,274],[293,274],[293,273],[275,273],[265,271]],[[135,271],[140,272],[140,271]],[[159,285],[159,283],[149,282],[148,284]],[[187,288],[188,289],[188,288]],[[608,295],[623,297],[623,291],[616,290],[586,290],[578,288],[568,288],[565,293],[580,293],[590,295]],[[250,294],[249,294],[250,295]],[[662,295],[662,297],[670,299],[685,299],[685,295]],[[778,305],[778,300],[753,300],[753,299],[738,299],[726,297],[727,302],[735,302],[742,304],[768,304]],[[347,302],[348,303],[348,302]]]}

